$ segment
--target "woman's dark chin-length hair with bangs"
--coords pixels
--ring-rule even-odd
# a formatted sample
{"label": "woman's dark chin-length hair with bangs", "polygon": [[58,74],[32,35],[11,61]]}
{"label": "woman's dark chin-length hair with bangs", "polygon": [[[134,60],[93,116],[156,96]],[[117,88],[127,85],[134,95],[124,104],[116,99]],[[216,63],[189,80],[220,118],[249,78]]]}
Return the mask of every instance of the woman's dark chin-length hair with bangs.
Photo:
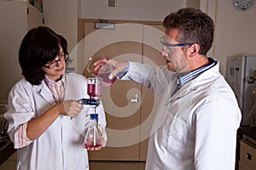
{"label": "woman's dark chin-length hair with bangs", "polygon": [[26,33],[20,44],[19,62],[22,75],[32,85],[39,85],[45,78],[42,66],[60,54],[67,53],[67,40],[49,27],[38,26]]}

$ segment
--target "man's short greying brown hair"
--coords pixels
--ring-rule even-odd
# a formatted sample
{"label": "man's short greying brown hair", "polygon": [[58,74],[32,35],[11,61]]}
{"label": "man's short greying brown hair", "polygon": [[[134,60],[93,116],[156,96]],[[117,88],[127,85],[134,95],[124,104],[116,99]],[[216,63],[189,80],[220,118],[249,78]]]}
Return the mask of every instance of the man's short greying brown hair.
{"label": "man's short greying brown hair", "polygon": [[166,16],[166,29],[179,29],[180,43],[198,43],[199,54],[206,55],[212,47],[214,24],[210,16],[197,8],[181,8]]}

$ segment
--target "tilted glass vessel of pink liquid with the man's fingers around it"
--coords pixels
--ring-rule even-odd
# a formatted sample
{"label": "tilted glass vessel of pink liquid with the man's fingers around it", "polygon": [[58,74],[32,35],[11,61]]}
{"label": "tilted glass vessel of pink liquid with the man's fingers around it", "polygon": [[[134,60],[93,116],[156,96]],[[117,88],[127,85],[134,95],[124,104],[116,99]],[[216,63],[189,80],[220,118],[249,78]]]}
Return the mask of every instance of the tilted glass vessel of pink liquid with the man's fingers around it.
{"label": "tilted glass vessel of pink liquid with the man's fingers around it", "polygon": [[102,78],[103,86],[110,86],[116,81],[117,77],[113,75],[113,65],[108,62],[104,54],[92,56],[85,68],[93,77]]}

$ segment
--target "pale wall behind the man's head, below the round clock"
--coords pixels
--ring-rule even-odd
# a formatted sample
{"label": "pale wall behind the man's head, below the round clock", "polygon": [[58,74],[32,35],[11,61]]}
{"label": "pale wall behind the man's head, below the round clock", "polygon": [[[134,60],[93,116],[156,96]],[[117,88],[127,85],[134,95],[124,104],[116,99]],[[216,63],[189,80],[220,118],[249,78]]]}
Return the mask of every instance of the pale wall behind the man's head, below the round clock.
{"label": "pale wall behind the man's head, below the round clock", "polygon": [[256,4],[248,11],[237,11],[230,0],[201,0],[201,6],[215,20],[215,41],[212,55],[220,61],[226,76],[227,57],[248,54],[256,56]]}

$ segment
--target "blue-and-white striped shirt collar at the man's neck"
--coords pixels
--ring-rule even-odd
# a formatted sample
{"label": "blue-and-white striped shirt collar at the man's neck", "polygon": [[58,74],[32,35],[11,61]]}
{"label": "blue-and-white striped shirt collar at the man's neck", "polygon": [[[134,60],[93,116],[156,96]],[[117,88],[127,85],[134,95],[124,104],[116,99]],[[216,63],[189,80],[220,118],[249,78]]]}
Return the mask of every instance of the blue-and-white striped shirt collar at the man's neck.
{"label": "blue-and-white striped shirt collar at the man's neck", "polygon": [[199,75],[201,75],[201,73],[203,73],[204,71],[207,71],[208,69],[212,68],[212,66],[214,66],[218,63],[218,61],[216,61],[210,57],[208,57],[208,60],[210,62],[209,65],[203,66],[203,67],[201,67],[195,71],[189,72],[189,73],[177,74],[177,88],[175,89],[173,94],[175,94],[179,88],[182,88],[184,86],[184,84],[193,80],[195,77],[198,77]]}

